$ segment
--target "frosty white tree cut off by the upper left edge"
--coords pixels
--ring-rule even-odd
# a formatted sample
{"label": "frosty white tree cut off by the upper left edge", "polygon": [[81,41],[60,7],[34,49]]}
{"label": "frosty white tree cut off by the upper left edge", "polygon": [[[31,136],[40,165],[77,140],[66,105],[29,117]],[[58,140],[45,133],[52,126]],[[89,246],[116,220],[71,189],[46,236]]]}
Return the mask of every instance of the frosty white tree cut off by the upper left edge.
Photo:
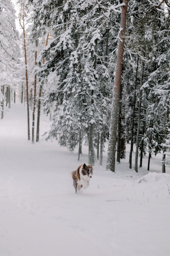
{"label": "frosty white tree cut off by the upper left edge", "polygon": [[0,2],[0,110],[4,116],[4,97],[7,92],[9,108],[15,85],[15,67],[18,62],[18,33],[15,27],[15,11],[10,0]]}

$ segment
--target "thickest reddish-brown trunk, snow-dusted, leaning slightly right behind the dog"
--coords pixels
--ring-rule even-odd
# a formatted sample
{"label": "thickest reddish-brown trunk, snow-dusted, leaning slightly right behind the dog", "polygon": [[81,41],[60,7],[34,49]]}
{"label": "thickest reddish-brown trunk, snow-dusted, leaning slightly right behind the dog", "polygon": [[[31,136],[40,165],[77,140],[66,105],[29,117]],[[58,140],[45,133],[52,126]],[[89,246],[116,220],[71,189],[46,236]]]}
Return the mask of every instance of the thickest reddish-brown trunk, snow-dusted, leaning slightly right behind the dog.
{"label": "thickest reddish-brown trunk, snow-dusted, leaning slightly right behind the dog", "polygon": [[122,6],[122,12],[121,12],[121,21],[120,21],[121,32],[119,35],[120,39],[119,39],[117,63],[116,63],[115,85],[113,88],[111,127],[109,132],[109,145],[108,145],[107,165],[106,165],[106,170],[110,170],[113,172],[115,171],[117,117],[118,117],[118,106],[119,106],[119,97],[120,97],[120,85],[121,85],[121,73],[122,73],[128,0],[123,0],[123,3],[125,5]]}

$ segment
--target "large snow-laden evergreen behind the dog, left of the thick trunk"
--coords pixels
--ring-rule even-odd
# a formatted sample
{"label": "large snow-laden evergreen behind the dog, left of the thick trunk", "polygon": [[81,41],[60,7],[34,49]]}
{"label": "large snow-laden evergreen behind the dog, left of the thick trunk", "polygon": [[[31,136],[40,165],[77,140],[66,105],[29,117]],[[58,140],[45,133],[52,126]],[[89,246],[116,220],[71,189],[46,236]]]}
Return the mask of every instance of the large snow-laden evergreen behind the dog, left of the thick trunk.
{"label": "large snow-laden evergreen behind the dog, left of the thick trunk", "polygon": [[[108,54],[108,29],[105,27],[109,18],[101,15],[101,11],[112,12],[111,5],[108,8],[103,3],[68,1],[62,8],[61,5],[56,6],[54,13],[62,13],[57,20],[53,20],[54,13],[50,12],[54,40],[44,51],[47,62],[42,69],[48,83],[50,77],[58,76],[56,86],[47,95],[45,93],[44,102],[48,112],[51,100],[57,101],[49,136],[57,137],[57,133],[60,133],[61,145],[72,150],[80,141],[80,132],[81,137],[88,134],[89,156],[92,156],[90,162],[94,161],[92,139],[100,132],[99,128],[107,126],[109,109],[106,97],[109,95],[109,76],[106,56],[103,55]],[[43,6],[43,14],[50,9],[49,5],[48,2],[48,8]],[[52,5],[51,8],[53,11]]]}

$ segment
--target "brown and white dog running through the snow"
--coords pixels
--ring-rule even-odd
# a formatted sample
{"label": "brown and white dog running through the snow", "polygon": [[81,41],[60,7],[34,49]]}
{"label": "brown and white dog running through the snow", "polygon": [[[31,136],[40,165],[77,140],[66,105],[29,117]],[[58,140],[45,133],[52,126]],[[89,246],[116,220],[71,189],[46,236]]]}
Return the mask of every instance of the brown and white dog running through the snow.
{"label": "brown and white dog running through the snow", "polygon": [[86,165],[85,163],[84,165],[80,165],[76,171],[71,172],[75,193],[77,193],[77,190],[80,190],[82,187],[86,189],[89,186],[92,174],[92,165]]}

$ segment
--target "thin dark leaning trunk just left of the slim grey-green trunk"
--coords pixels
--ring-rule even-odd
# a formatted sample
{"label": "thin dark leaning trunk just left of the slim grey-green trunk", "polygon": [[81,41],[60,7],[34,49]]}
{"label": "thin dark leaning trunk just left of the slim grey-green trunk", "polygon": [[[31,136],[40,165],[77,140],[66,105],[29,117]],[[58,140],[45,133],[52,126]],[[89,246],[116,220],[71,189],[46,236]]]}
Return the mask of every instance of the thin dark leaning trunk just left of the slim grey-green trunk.
{"label": "thin dark leaning trunk just left of the slim grey-green trunk", "polygon": [[138,78],[138,63],[139,63],[139,58],[137,58],[136,77],[135,77],[134,96],[133,96],[133,112],[132,112],[132,127],[131,127],[131,149],[130,149],[130,155],[129,155],[129,168],[130,169],[132,169],[133,134],[134,134],[135,105],[136,105],[136,86],[137,86],[137,78]]}

